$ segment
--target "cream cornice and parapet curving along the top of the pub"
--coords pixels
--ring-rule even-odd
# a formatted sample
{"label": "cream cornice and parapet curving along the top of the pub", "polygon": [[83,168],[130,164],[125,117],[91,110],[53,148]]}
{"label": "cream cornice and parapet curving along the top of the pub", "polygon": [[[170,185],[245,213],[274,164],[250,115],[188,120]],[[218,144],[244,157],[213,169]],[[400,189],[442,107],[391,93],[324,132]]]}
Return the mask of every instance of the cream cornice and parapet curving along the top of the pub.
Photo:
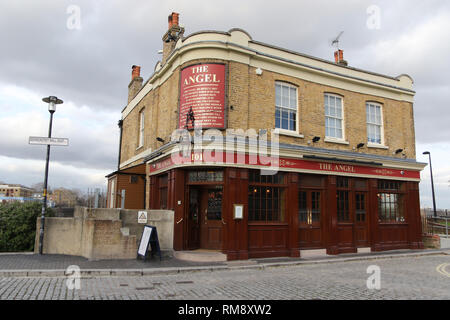
{"label": "cream cornice and parapet curving along the top of the pub", "polygon": [[407,75],[397,78],[356,68],[336,65],[287,49],[253,41],[243,30],[205,31],[179,39],[168,60],[145,82],[142,89],[122,110],[122,119],[152,89],[163,84],[183,63],[196,59],[220,59],[247,63],[252,67],[277,72],[344,90],[413,102],[413,81]]}

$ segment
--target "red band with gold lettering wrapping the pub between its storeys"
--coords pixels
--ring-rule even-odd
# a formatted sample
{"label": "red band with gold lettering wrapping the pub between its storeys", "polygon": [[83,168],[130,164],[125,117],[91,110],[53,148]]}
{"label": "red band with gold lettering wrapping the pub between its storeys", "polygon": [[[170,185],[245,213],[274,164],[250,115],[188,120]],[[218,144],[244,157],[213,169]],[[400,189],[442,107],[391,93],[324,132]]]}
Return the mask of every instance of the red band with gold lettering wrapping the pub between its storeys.
{"label": "red band with gold lettering wrapping the pub between its storeys", "polygon": [[150,165],[150,175],[177,167],[214,166],[420,181],[420,170],[388,168],[382,163],[368,162],[367,165],[363,165],[361,162],[352,162],[351,160],[305,160],[208,150],[190,152],[187,156],[174,153],[169,157],[150,160],[147,164]]}

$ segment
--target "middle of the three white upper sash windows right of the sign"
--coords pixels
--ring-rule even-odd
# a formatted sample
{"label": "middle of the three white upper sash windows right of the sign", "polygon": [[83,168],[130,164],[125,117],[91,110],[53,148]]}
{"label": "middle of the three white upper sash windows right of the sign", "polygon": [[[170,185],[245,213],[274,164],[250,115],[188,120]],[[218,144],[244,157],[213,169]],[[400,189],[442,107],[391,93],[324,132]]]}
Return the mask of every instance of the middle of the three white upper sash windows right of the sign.
{"label": "middle of the three white upper sash windows right of the sign", "polygon": [[325,94],[325,136],[344,139],[344,112],[342,97]]}

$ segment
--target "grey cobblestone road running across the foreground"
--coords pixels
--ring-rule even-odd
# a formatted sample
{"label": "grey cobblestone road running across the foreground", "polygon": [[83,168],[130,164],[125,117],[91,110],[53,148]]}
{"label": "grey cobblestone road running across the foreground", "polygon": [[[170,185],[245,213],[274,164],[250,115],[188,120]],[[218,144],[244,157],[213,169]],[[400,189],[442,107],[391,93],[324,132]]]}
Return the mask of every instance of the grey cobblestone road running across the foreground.
{"label": "grey cobblestone road running across the foreground", "polygon": [[[381,289],[369,290],[367,267],[381,270]],[[0,278],[0,299],[450,299],[450,256],[422,256],[264,270],[82,278]]]}

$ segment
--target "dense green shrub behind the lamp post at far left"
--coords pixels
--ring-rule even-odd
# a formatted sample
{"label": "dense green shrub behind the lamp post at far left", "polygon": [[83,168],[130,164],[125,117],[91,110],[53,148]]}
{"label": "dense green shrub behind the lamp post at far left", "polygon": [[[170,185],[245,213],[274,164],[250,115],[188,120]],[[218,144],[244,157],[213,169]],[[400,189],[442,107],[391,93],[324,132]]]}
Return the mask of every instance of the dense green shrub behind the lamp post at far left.
{"label": "dense green shrub behind the lamp post at far left", "polygon": [[[0,252],[33,251],[41,211],[40,201],[0,204]],[[53,215],[49,208],[46,217]]]}

